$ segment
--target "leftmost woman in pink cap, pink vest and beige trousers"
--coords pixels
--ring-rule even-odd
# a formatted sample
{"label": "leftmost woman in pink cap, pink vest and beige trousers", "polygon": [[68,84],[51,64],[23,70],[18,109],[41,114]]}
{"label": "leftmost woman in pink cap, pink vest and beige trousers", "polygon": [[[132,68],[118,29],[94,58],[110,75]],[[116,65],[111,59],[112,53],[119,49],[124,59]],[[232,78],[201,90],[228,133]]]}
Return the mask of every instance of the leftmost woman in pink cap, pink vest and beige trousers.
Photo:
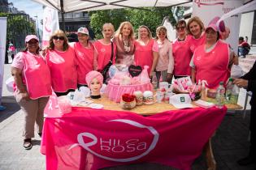
{"label": "leftmost woman in pink cap, pink vest and beige trousers", "polygon": [[32,148],[31,138],[34,138],[35,122],[41,136],[44,109],[52,90],[50,70],[39,53],[37,36],[26,36],[25,43],[26,49],[15,55],[11,74],[15,79],[15,100],[24,113],[23,147],[29,150]]}

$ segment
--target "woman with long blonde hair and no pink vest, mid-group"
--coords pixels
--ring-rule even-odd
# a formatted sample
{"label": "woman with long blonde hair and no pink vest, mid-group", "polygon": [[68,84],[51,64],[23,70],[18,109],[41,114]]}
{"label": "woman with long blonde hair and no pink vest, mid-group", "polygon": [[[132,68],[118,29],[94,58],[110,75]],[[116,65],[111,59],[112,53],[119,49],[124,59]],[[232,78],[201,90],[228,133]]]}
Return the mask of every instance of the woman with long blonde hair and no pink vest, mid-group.
{"label": "woman with long blonde hair and no pink vest, mid-group", "polygon": [[113,42],[116,45],[116,62],[130,66],[133,64],[134,31],[132,23],[125,21],[120,24]]}

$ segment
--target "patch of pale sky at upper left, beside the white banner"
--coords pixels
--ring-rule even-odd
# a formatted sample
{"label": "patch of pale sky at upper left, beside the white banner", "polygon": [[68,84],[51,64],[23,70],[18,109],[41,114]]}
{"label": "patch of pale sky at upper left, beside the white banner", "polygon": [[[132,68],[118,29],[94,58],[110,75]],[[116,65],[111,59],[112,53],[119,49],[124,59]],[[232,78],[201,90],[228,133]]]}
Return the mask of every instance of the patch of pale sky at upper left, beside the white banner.
{"label": "patch of pale sky at upper left, beside the white banner", "polygon": [[[40,3],[33,2],[32,0],[8,0],[8,2],[12,2],[13,6],[19,11],[25,11],[30,18],[34,20],[38,19],[38,28],[42,28],[40,21],[43,19],[43,9]],[[37,18],[35,16],[37,16]]]}

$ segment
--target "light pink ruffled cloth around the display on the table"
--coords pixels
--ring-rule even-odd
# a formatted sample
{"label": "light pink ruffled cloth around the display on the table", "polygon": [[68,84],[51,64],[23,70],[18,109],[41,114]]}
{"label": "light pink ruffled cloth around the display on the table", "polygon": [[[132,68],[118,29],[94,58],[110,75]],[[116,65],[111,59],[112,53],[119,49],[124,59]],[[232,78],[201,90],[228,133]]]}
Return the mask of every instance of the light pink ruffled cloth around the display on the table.
{"label": "light pink ruffled cloth around the display on the table", "polygon": [[125,85],[125,86],[119,86],[112,83],[108,83],[106,86],[106,96],[110,100],[113,100],[115,102],[120,102],[121,96],[124,93],[133,94],[134,91],[153,91],[153,85],[151,83],[145,83],[145,84],[136,84],[136,85]]}

